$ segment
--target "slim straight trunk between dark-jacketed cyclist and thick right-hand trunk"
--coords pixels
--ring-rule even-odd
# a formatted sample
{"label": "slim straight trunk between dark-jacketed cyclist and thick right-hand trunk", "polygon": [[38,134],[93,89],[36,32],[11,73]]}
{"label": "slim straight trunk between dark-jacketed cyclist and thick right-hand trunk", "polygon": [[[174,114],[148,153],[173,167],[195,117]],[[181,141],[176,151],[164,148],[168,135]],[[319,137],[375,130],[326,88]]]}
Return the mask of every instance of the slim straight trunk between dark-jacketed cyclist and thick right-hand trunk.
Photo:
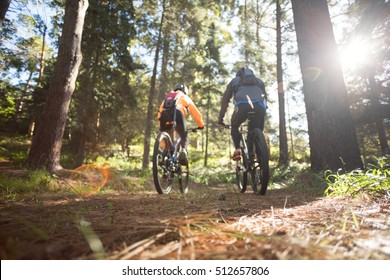
{"label": "slim straight trunk between dark-jacketed cyclist and thick right-hand trunk", "polygon": [[279,164],[288,165],[288,145],[286,131],[286,110],[284,103],[284,87],[283,87],[283,68],[282,68],[282,29],[281,19],[282,13],[280,1],[276,1],[276,65],[278,79],[278,101],[279,101]]}

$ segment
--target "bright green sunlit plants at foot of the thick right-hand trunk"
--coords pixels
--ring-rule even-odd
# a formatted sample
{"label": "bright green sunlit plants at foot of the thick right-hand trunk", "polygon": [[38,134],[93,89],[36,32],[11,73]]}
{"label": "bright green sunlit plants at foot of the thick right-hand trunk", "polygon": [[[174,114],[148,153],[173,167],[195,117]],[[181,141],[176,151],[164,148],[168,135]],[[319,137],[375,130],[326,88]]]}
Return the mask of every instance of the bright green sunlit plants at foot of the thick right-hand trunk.
{"label": "bright green sunlit plants at foot of the thick right-hand trunk", "polygon": [[362,194],[382,196],[390,191],[390,158],[378,158],[375,165],[370,165],[366,171],[354,170],[348,173],[325,172],[328,196],[352,196]]}

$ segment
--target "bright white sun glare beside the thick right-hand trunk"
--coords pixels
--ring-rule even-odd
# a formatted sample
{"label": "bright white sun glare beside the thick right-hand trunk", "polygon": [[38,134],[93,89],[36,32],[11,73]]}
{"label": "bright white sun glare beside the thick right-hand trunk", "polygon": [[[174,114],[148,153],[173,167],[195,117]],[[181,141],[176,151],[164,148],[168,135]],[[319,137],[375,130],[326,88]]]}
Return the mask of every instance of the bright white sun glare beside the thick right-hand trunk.
{"label": "bright white sun glare beside the thick right-hand trunk", "polygon": [[355,41],[340,50],[340,60],[343,67],[348,69],[358,68],[368,61],[368,45],[361,41]]}

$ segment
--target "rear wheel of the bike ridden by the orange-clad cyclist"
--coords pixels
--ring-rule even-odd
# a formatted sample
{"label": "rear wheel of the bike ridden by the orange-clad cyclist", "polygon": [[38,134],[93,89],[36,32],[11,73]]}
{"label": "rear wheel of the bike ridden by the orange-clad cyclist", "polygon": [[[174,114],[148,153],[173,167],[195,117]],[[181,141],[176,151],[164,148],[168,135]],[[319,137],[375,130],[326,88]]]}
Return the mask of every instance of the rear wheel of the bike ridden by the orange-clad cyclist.
{"label": "rear wheel of the bike ridden by the orange-clad cyclist", "polygon": [[169,170],[171,138],[168,133],[161,132],[153,150],[153,180],[159,194],[167,194],[172,190],[173,176]]}

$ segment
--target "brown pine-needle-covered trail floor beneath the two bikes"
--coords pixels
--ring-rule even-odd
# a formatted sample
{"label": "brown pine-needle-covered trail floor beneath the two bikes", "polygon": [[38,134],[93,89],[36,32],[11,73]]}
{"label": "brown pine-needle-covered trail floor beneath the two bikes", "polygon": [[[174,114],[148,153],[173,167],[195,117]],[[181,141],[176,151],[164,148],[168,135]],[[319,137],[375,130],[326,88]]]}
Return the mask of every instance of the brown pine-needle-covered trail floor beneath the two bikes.
{"label": "brown pine-needle-covered trail floor beneath the two bikes", "polygon": [[89,196],[1,194],[0,258],[390,259],[389,197],[289,186],[259,196],[194,183],[185,196],[158,195],[152,181],[142,185]]}

